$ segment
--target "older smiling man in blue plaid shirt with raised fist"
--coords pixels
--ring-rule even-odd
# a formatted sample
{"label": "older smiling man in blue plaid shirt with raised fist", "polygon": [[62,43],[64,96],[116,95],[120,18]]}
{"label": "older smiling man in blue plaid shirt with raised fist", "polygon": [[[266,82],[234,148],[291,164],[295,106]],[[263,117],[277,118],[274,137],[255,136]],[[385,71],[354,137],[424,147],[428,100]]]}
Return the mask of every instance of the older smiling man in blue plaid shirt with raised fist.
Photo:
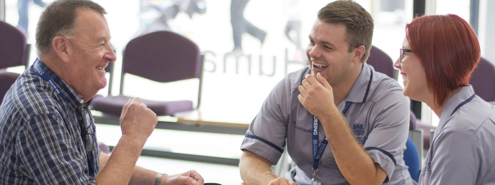
{"label": "older smiling man in blue plaid shirt with raised fist", "polygon": [[196,171],[168,176],[135,166],[157,123],[139,98],[122,110],[112,154],[100,154],[88,106],[116,60],[105,13],[90,0],[55,0],[42,13],[39,57],[0,107],[0,184],[203,184]]}

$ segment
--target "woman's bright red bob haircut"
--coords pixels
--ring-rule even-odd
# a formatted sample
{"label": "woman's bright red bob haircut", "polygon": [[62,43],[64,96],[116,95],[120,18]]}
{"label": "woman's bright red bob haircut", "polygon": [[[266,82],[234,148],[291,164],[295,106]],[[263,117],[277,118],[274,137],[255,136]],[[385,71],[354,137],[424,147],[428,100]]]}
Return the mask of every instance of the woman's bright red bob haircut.
{"label": "woman's bright red bob haircut", "polygon": [[453,14],[416,17],[406,25],[406,37],[423,65],[437,106],[469,83],[480,60],[480,44],[464,19]]}

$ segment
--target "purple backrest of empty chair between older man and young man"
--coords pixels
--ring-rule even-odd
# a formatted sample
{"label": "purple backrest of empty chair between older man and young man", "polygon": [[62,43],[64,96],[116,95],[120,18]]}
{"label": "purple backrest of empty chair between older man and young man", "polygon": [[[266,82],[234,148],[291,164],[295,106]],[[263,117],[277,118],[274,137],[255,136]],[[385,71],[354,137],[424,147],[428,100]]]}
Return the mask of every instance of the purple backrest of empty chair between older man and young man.
{"label": "purple backrest of empty chair between older man and young man", "polygon": [[129,41],[122,55],[120,94],[126,73],[157,82],[198,78],[199,107],[204,58],[195,42],[175,32],[157,31]]}

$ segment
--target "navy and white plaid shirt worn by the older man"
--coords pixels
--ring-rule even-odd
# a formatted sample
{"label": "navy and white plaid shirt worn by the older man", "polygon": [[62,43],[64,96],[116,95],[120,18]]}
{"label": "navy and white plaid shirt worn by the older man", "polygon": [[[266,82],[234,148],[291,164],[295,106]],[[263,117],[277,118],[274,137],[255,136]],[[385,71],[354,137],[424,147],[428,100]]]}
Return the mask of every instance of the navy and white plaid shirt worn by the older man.
{"label": "navy and white plaid shirt worn by the older man", "polygon": [[[81,95],[41,60],[36,62],[62,91],[70,110],[33,66],[21,74],[0,106],[0,185],[96,185],[81,137],[81,110],[89,102],[79,103]],[[91,153],[98,174],[95,135]]]}

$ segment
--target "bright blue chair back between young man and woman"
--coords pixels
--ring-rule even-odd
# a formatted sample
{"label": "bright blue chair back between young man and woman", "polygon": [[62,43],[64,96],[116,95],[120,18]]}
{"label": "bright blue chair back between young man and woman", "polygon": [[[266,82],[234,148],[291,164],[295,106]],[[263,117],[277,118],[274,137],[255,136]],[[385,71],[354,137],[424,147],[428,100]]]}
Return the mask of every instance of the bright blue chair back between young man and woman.
{"label": "bright blue chair back between young man and woman", "polygon": [[419,155],[414,143],[411,139],[407,138],[407,142],[405,143],[406,149],[404,150],[404,163],[409,171],[409,175],[411,175],[411,179],[418,182],[419,179]]}

